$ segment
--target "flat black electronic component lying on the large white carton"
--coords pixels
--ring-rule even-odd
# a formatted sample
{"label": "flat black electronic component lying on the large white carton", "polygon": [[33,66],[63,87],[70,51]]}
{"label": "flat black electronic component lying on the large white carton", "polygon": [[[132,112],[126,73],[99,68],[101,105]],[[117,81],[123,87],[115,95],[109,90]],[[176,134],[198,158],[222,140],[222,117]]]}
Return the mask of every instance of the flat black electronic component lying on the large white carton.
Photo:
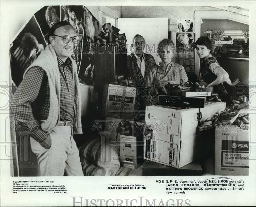
{"label": "flat black electronic component lying on the large white carton", "polygon": [[183,97],[183,96],[159,95],[158,105],[204,108],[205,100],[206,100],[205,97]]}

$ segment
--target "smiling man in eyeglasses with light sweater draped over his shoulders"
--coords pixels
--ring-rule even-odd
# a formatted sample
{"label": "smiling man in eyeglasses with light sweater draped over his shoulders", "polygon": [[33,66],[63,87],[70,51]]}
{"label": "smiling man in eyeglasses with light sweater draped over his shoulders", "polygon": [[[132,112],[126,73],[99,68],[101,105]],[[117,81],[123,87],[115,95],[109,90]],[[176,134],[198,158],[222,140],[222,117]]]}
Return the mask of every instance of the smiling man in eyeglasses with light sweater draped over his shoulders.
{"label": "smiling man in eyeglasses with light sweater draped over his shoulders", "polygon": [[82,134],[77,65],[71,58],[78,42],[72,25],[55,23],[50,44],[26,69],[12,100],[15,121],[30,135],[38,176],[83,176],[73,139]]}

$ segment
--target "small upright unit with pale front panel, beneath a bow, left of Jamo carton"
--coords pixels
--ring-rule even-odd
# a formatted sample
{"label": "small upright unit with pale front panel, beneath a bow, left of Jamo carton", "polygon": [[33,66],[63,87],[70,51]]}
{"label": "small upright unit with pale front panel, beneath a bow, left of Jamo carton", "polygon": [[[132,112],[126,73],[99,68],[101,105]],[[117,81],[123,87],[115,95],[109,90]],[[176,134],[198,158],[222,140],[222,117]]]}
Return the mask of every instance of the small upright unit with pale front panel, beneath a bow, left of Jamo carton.
{"label": "small upright unit with pale front panel, beneath a bow, left of Jamo carton", "polygon": [[123,167],[138,168],[144,163],[143,133],[137,136],[120,135],[120,161]]}

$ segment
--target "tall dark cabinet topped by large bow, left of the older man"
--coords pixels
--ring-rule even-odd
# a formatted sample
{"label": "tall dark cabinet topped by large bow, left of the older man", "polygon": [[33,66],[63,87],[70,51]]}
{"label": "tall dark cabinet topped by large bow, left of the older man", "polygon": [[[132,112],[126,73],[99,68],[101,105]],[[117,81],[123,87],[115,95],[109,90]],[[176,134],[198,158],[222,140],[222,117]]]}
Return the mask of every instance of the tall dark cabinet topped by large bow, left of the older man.
{"label": "tall dark cabinet topped by large bow, left of the older man", "polygon": [[127,70],[127,49],[121,45],[98,46],[94,53],[94,80],[96,90],[105,84],[114,83],[117,76],[129,76]]}

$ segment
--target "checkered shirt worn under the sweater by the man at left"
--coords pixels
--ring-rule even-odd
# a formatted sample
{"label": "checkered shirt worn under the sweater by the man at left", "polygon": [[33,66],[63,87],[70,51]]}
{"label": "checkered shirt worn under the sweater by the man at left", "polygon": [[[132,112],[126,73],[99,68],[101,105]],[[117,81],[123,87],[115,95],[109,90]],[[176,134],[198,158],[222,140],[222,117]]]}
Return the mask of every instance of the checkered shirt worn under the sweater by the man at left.
{"label": "checkered shirt worn under the sweater by the man at left", "polygon": [[[71,60],[65,63],[57,55],[60,71],[60,121],[72,120],[75,115],[74,82]],[[46,72],[38,66],[32,67],[20,83],[12,100],[12,111],[22,132],[29,132],[36,141],[46,137],[39,120],[46,120],[50,108],[50,87]]]}

